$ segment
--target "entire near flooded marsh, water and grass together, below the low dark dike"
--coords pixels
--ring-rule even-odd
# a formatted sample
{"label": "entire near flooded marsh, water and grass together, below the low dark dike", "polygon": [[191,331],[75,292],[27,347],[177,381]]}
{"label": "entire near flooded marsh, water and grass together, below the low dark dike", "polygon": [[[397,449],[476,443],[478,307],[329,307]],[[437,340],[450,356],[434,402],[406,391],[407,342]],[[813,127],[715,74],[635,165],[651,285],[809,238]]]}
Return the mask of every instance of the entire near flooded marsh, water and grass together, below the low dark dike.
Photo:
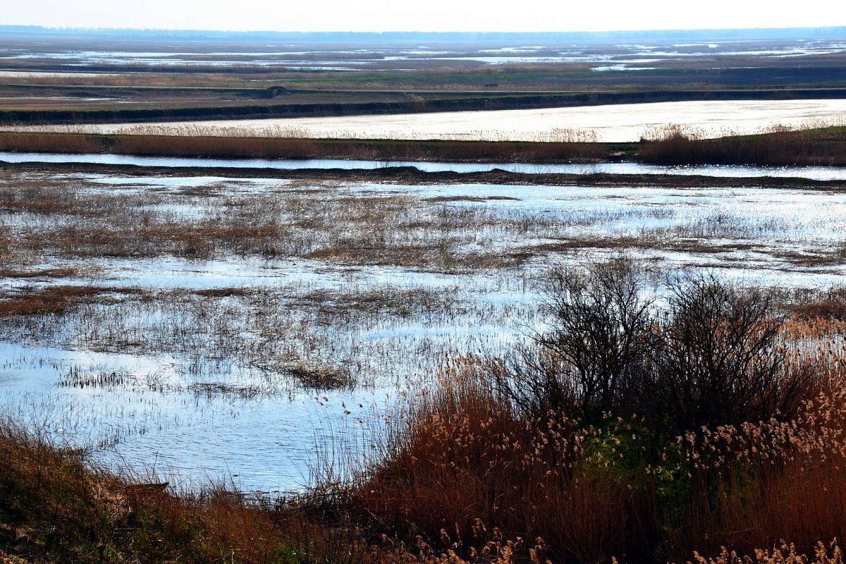
{"label": "entire near flooded marsh, water and grass together, below the low dark dike", "polygon": [[188,489],[362,456],[448,359],[542,330],[553,266],[846,274],[843,189],[0,175],[3,412]]}

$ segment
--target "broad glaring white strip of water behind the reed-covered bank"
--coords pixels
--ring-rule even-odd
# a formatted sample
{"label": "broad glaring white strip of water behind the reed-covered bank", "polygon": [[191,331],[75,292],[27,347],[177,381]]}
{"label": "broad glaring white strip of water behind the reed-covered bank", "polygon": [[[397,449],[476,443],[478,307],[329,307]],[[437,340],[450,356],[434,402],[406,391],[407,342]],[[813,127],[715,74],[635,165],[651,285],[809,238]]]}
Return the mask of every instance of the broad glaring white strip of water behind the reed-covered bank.
{"label": "broad glaring white strip of water behind the reed-covered bank", "polygon": [[333,118],[229,119],[203,122],[99,123],[5,127],[90,134],[223,135],[314,139],[637,141],[678,124],[706,138],[753,134],[776,125],[842,124],[846,100],[672,101],[530,110],[429,112]]}

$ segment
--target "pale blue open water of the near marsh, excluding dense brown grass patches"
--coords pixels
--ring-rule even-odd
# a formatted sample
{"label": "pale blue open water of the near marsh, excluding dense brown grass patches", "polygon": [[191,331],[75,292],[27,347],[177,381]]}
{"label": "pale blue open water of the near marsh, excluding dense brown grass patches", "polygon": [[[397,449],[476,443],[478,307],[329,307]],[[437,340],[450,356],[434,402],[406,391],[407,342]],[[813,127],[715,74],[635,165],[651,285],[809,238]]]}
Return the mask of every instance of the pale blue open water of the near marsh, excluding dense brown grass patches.
{"label": "pale blue open water of the near marsh, excluding dense brown grass patches", "polygon": [[[418,210],[409,212],[411,221],[438,213],[477,217],[463,244],[495,255],[574,237],[667,237],[669,244],[654,247],[538,252],[498,269],[350,265],[294,255],[48,256],[30,266],[78,266],[91,274],[0,278],[6,296],[63,284],[149,293],[140,299],[116,293],[113,303],[61,316],[0,320],[0,411],[55,441],[92,446],[100,463],[149,471],[185,488],[226,480],[247,491],[295,490],[309,483],[321,459],[360,457],[368,452],[368,433],[405,394],[426,386],[447,355],[502,353],[542,329],[539,288],[555,264],[624,250],[656,271],[706,269],[755,286],[846,282],[843,260],[814,266],[791,255],[826,255],[846,245],[846,195],[829,192],[353,183],[303,195],[309,187],[270,179],[12,174],[7,185],[47,182],[80,197],[155,194],[168,213],[186,218],[210,213],[222,201],[216,199],[286,191],[313,205],[402,196]],[[203,198],[181,191],[212,186]],[[0,227],[14,230],[51,221],[0,214]],[[437,245],[438,236],[422,240]],[[722,247],[700,250],[698,243]],[[214,302],[192,294],[213,288],[250,294]],[[374,295],[385,305],[368,306]],[[394,306],[387,305],[391,299]],[[250,362],[240,349],[255,343],[269,357],[296,353],[352,370],[360,384],[306,388],[272,365]],[[96,377],[110,383],[62,385]],[[218,384],[242,392],[219,391]]]}

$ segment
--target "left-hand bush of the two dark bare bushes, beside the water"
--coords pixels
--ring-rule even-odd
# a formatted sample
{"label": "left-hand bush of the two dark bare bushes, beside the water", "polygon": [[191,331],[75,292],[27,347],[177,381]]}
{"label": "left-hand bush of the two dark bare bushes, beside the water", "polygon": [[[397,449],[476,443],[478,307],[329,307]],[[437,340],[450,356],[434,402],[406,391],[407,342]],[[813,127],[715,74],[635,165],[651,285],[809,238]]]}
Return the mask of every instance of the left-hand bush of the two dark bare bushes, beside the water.
{"label": "left-hand bush of the two dark bare bushes, beside the water", "polygon": [[552,271],[552,328],[532,337],[514,374],[497,382],[525,414],[617,408],[642,369],[651,342],[651,300],[633,262]]}

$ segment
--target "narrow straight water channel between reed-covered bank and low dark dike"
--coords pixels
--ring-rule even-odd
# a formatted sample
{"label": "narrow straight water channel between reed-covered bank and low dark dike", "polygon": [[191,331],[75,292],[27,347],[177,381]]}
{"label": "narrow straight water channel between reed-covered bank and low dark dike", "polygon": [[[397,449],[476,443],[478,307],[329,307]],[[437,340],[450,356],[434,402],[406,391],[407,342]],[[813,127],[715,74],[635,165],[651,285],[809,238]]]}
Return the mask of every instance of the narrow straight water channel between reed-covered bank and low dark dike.
{"label": "narrow straight water channel between reed-covered bank and low dark dike", "polygon": [[[484,172],[495,168],[508,172],[561,174],[682,174],[712,177],[774,177],[809,178],[812,180],[846,179],[846,167],[758,167],[753,165],[680,165],[662,167],[639,162],[600,162],[596,164],[533,164],[528,162],[421,162],[421,161],[361,161],[355,159],[201,159],[175,156],[133,155],[69,155],[58,153],[0,152],[0,162],[77,162],[140,167],[228,167],[274,168],[296,170],[302,168],[342,168],[345,170],[373,170],[385,167],[416,167],[424,172]],[[135,183],[166,183],[167,179],[140,179]],[[173,183],[198,182],[174,178]],[[183,184],[185,185],[185,184]]]}

